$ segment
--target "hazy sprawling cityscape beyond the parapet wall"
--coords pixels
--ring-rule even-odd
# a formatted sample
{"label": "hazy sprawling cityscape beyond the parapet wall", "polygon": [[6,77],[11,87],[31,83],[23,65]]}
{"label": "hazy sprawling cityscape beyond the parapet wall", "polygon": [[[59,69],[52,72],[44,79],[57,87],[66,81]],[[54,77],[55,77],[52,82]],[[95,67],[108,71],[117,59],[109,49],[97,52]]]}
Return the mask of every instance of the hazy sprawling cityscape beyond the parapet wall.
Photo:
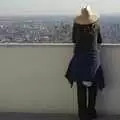
{"label": "hazy sprawling cityscape beyond the parapet wall", "polygon": [[[71,43],[74,16],[0,17],[0,43]],[[100,17],[104,43],[120,42],[120,15]]]}

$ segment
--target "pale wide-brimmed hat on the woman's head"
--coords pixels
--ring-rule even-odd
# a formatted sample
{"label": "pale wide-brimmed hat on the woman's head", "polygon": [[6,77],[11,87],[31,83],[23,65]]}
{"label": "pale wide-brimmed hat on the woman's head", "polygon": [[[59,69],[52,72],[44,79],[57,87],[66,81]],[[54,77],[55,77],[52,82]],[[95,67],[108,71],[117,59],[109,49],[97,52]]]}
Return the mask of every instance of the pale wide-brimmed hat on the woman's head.
{"label": "pale wide-brimmed hat on the woman's head", "polygon": [[81,9],[81,14],[75,18],[75,22],[79,24],[91,24],[99,20],[99,15],[94,12],[90,5]]}

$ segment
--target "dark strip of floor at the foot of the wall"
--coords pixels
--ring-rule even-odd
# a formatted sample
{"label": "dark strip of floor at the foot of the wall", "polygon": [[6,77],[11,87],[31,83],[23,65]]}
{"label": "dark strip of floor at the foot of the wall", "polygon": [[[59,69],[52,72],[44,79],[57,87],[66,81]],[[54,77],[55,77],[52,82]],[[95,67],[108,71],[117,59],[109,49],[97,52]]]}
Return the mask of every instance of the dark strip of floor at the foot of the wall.
{"label": "dark strip of floor at the foot of the wall", "polygon": [[[0,113],[0,120],[79,120],[70,114]],[[120,116],[100,116],[97,120],[120,120]]]}

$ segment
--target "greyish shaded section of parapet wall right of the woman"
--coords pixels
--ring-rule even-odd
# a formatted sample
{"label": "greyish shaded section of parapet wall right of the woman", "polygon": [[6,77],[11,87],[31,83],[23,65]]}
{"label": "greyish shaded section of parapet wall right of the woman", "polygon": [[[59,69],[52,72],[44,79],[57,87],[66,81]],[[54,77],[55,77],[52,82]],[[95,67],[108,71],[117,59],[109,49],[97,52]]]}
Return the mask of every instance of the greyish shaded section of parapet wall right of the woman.
{"label": "greyish shaded section of parapet wall right of the woman", "polygon": [[120,114],[120,45],[103,46],[101,62],[106,88],[99,93],[97,108],[103,113]]}

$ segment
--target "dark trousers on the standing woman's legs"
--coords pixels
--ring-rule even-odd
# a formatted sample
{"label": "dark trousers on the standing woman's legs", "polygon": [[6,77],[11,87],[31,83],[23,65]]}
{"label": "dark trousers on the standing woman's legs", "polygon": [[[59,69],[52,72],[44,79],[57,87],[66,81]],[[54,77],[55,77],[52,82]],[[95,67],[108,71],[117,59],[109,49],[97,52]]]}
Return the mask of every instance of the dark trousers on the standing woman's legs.
{"label": "dark trousers on the standing woman's legs", "polygon": [[86,87],[82,83],[77,83],[78,114],[80,120],[90,120],[96,117],[96,96],[97,86],[95,83],[93,83],[91,87]]}

